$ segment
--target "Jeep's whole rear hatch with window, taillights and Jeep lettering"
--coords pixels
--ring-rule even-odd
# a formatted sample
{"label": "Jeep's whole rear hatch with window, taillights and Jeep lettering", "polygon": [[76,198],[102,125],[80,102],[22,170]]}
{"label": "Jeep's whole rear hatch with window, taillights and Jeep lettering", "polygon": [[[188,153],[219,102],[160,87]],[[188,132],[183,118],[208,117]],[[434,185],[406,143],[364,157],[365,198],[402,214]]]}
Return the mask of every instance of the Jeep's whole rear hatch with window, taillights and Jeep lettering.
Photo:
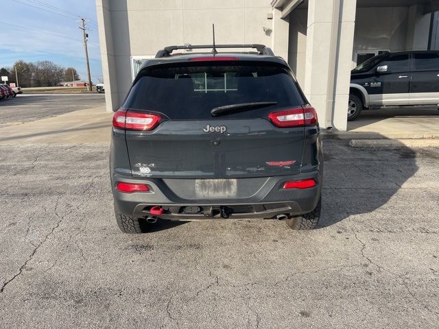
{"label": "Jeep's whole rear hatch with window, taillights and Jeep lettering", "polygon": [[168,186],[176,178],[260,178],[252,195],[266,177],[300,173],[305,125],[317,119],[287,66],[219,58],[139,73],[113,121],[125,130],[133,177]]}

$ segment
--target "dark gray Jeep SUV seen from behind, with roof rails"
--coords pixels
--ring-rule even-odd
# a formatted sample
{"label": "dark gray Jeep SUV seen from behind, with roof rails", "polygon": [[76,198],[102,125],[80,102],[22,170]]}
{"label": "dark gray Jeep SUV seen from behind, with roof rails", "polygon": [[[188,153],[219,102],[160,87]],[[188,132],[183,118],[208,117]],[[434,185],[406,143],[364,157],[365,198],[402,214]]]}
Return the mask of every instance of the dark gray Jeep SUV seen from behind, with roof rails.
{"label": "dark gray Jeep SUV seen from behind, with roof rails", "polygon": [[288,64],[263,45],[248,52],[172,53],[141,66],[114,114],[110,175],[119,228],[158,219],[320,217],[322,146],[316,110]]}

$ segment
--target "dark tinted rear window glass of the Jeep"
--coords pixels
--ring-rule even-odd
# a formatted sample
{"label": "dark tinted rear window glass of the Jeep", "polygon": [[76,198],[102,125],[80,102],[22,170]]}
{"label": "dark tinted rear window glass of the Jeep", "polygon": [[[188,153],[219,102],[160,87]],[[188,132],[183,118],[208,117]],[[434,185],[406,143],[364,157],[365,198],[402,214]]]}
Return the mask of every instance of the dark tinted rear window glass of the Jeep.
{"label": "dark tinted rear window glass of the Jeep", "polygon": [[277,102],[216,117],[259,118],[305,103],[292,75],[281,66],[160,66],[141,74],[122,108],[159,112],[169,119],[213,119],[211,110],[218,106]]}

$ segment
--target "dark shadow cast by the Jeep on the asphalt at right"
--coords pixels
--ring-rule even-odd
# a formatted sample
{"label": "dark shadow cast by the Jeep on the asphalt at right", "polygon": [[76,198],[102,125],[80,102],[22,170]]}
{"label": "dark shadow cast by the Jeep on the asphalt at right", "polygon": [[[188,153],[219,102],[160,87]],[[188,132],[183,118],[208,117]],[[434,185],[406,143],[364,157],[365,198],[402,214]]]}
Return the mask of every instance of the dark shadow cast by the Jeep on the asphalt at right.
{"label": "dark shadow cast by the Jeep on the asphalt at right", "polygon": [[348,141],[324,140],[323,149],[319,228],[384,206],[418,171],[416,151],[409,147],[350,147]]}

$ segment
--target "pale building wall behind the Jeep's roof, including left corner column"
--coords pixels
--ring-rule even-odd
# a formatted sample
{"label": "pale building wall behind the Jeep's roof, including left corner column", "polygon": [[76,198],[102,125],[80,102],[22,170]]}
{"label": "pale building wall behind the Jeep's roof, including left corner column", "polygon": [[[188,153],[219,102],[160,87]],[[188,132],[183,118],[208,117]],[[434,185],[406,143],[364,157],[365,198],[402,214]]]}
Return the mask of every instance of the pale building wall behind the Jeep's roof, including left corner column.
{"label": "pale building wall behind the Jeep's roof, including left corner column", "polygon": [[[288,19],[270,0],[97,0],[107,110],[132,83],[131,56],[155,56],[169,45],[260,43],[287,60]],[[273,19],[268,19],[272,14]],[[265,30],[264,30],[265,27]],[[107,80],[105,79],[107,78]],[[110,84],[110,88],[107,88]]]}

